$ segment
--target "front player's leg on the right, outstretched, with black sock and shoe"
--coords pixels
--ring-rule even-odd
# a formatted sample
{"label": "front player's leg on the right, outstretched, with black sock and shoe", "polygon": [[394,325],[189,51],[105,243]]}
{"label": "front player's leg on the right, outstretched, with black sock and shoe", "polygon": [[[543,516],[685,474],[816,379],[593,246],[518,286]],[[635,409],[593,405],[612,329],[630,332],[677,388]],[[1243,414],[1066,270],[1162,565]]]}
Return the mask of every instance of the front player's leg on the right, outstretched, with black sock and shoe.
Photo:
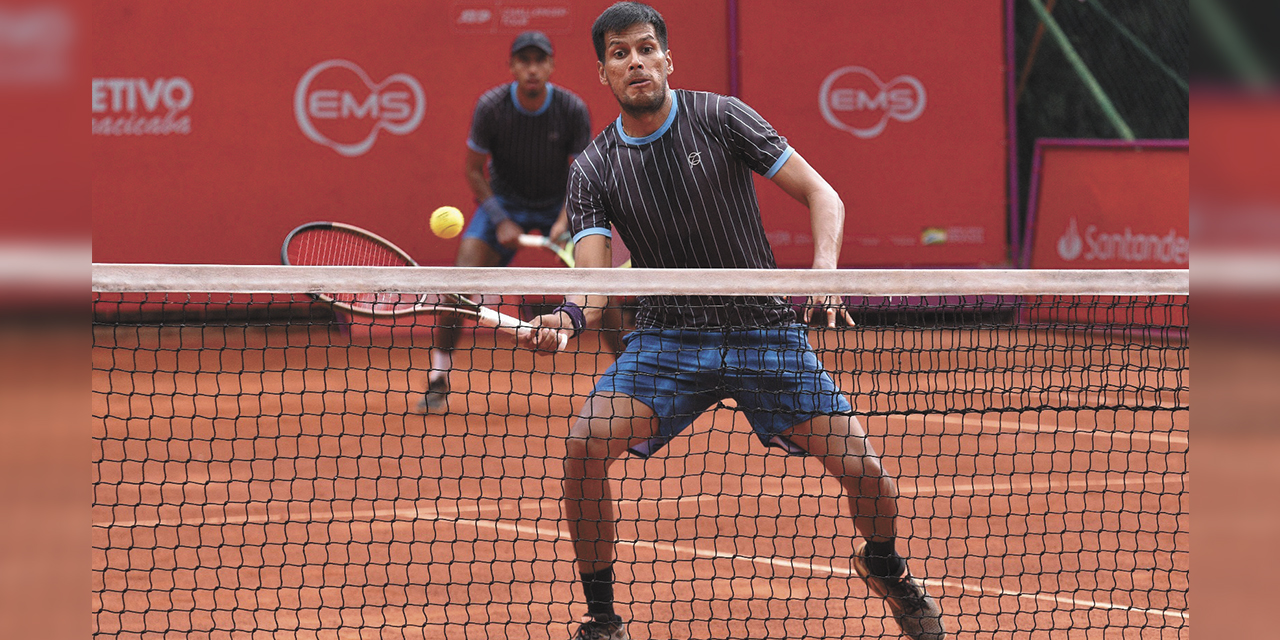
{"label": "front player's leg on the right, outstretched, with black sock and shoe", "polygon": [[854,550],[854,568],[888,604],[902,634],[913,640],[942,640],[942,609],[897,554],[897,486],[881,465],[861,424],[851,416],[818,416],[787,431],[787,438],[822,460],[840,480],[852,507],[854,526],[864,541]]}

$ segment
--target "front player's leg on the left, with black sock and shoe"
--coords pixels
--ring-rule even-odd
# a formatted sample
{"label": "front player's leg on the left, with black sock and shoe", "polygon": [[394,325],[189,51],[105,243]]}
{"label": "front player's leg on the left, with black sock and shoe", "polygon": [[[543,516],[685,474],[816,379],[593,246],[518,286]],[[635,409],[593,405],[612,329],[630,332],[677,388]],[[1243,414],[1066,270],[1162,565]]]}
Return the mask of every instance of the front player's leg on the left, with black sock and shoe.
{"label": "front player's leg on the left, with black sock and shoe", "polygon": [[648,439],[658,420],[626,396],[593,396],[573,426],[564,456],[564,520],[577,557],[588,618],[575,637],[626,640],[626,623],[613,611],[613,549],[617,515],[609,467],[628,445]]}

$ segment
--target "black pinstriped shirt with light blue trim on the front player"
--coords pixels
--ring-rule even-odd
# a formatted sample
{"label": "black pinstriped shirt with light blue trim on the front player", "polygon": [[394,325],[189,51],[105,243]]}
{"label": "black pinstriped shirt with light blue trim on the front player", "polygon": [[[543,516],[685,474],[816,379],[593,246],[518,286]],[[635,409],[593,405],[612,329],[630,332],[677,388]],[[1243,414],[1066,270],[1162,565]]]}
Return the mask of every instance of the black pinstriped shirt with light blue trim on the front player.
{"label": "black pinstriped shirt with light blue trim on the front player", "polygon": [[[667,122],[632,138],[607,127],[570,170],[573,239],[617,228],[636,268],[776,269],[751,173],[772,178],[786,138],[736,97],[675,90]],[[774,297],[640,300],[636,326],[776,326],[795,321]]]}

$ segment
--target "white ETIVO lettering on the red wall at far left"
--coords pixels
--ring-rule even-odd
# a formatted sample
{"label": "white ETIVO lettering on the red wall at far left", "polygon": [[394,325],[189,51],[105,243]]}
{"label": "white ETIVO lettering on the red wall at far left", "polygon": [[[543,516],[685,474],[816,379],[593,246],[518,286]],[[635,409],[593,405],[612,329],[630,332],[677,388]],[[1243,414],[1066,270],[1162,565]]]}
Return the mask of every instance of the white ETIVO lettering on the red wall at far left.
{"label": "white ETIVO lettering on the red wall at far left", "polygon": [[191,81],[173,78],[93,78],[93,136],[189,134]]}

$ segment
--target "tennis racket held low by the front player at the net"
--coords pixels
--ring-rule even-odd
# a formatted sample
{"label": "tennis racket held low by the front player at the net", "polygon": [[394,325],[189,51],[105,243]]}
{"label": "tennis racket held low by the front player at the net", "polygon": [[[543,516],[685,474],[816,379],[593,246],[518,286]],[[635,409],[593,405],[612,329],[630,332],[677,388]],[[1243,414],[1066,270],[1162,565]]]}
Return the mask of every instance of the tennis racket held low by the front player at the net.
{"label": "tennis racket held low by the front player at the net", "polygon": [[[289,232],[280,247],[280,262],[310,266],[417,266],[402,248],[387,238],[343,223],[307,223]],[[529,323],[456,293],[312,293],[334,308],[362,315],[394,317],[413,314],[457,314],[516,335],[534,329]],[[561,348],[568,338],[561,334]]]}

